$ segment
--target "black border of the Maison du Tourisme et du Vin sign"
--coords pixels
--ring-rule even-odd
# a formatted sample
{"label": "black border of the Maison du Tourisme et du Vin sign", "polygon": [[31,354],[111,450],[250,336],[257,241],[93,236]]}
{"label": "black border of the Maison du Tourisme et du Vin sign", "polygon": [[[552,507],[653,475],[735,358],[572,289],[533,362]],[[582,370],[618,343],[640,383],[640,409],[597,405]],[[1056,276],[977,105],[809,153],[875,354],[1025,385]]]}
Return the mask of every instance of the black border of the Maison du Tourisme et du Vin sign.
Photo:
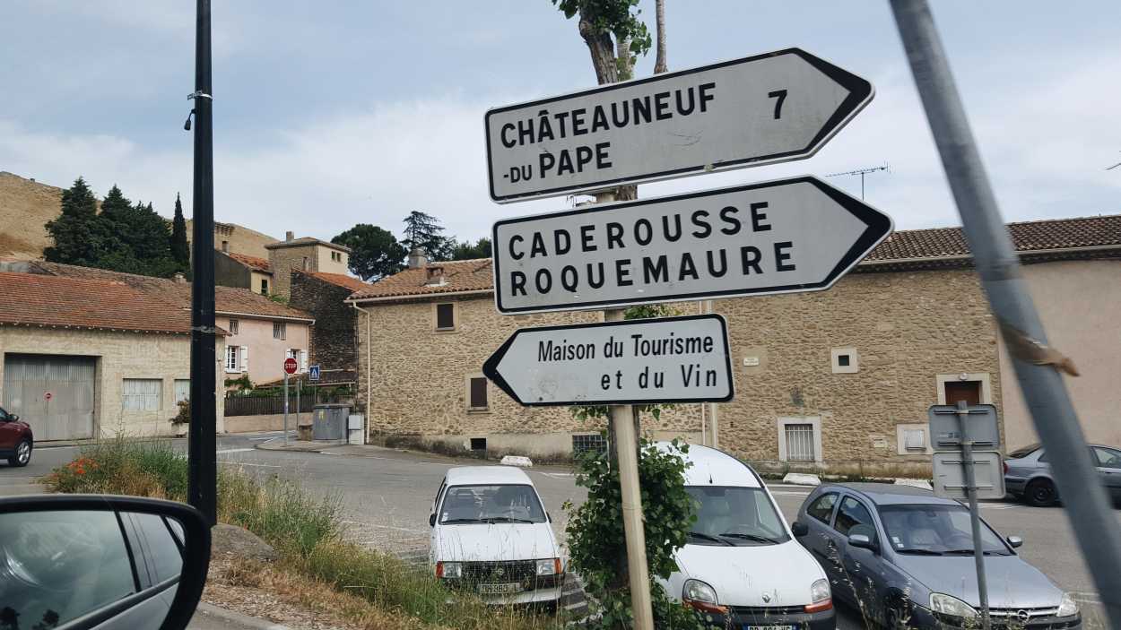
{"label": "black border of the Maison du Tourisme et du Vin sign", "polygon": [[[647,400],[647,399],[618,399],[618,400],[595,400],[595,401],[563,401],[563,402],[526,402],[513,391],[510,383],[502,378],[502,374],[498,371],[499,363],[509,352],[510,346],[513,345],[513,341],[518,339],[518,335],[525,333],[538,333],[547,331],[571,331],[577,328],[602,328],[610,326],[631,326],[634,324],[652,324],[652,323],[664,323],[664,322],[688,322],[693,319],[716,319],[720,322],[720,331],[724,337],[724,369],[728,370],[728,396],[723,398],[713,398],[711,396],[704,396],[700,398],[664,398],[658,400]],[[497,385],[507,396],[513,399],[515,402],[521,405],[522,407],[584,407],[584,406],[597,406],[597,405],[661,405],[661,404],[675,404],[675,402],[728,402],[735,398],[735,374],[732,371],[732,342],[728,337],[728,321],[724,319],[723,315],[717,313],[706,313],[704,315],[679,315],[675,317],[652,317],[648,319],[621,319],[618,322],[594,322],[591,324],[562,324],[557,326],[539,326],[531,328],[518,328],[515,331],[509,339],[507,339],[502,345],[495,350],[485,362],[483,362],[483,374],[490,379],[491,382]]]}

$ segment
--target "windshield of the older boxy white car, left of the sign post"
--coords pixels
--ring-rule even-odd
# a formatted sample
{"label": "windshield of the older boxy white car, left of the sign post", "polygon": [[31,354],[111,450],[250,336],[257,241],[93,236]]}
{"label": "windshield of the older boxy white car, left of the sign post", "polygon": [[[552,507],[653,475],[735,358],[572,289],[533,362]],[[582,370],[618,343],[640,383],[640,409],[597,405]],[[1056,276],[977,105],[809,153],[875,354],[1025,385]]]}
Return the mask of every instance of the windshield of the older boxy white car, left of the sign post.
{"label": "windshield of the older boxy white car, left of the sign post", "polygon": [[531,485],[453,485],[439,508],[439,522],[545,522]]}

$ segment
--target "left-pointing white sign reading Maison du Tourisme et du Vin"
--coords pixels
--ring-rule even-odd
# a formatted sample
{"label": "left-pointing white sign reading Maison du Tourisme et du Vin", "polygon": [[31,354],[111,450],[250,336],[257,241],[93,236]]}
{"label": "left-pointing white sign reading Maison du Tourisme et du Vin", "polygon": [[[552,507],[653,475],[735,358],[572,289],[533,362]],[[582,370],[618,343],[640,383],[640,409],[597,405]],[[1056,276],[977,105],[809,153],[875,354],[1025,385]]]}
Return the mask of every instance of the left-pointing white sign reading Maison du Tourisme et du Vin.
{"label": "left-pointing white sign reading Maison du Tourisme et du Vin", "polygon": [[529,407],[722,402],[733,395],[720,315],[522,328],[483,373]]}

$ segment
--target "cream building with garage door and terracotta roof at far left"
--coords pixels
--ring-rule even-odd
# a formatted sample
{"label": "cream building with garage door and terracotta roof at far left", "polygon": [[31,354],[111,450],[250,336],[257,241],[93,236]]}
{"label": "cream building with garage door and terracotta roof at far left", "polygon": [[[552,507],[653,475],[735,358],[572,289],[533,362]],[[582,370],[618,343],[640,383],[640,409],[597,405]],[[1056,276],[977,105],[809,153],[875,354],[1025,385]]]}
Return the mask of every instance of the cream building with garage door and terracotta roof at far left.
{"label": "cream building with garage door and terracotta roof at far left", "polygon": [[188,311],[121,281],[43,274],[0,272],[0,295],[18,296],[0,299],[0,406],[37,442],[176,433],[191,388]]}

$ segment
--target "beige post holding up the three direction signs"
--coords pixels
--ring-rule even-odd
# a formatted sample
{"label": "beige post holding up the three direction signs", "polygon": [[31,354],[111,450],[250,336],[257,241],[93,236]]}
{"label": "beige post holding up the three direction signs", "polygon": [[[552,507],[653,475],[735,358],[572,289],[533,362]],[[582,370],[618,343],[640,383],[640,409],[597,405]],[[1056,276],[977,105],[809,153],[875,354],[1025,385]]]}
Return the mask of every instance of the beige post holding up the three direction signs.
{"label": "beige post holding up the three direction signs", "polygon": [[[600,193],[595,201],[614,201],[614,192]],[[626,311],[603,312],[604,322],[620,322]],[[646,530],[642,528],[642,491],[638,481],[638,435],[636,410],[631,405],[608,407],[619,455],[619,491],[622,494],[623,535],[627,538],[627,573],[630,576],[631,611],[634,630],[654,630],[654,606],[650,603],[650,576],[646,565]]]}

